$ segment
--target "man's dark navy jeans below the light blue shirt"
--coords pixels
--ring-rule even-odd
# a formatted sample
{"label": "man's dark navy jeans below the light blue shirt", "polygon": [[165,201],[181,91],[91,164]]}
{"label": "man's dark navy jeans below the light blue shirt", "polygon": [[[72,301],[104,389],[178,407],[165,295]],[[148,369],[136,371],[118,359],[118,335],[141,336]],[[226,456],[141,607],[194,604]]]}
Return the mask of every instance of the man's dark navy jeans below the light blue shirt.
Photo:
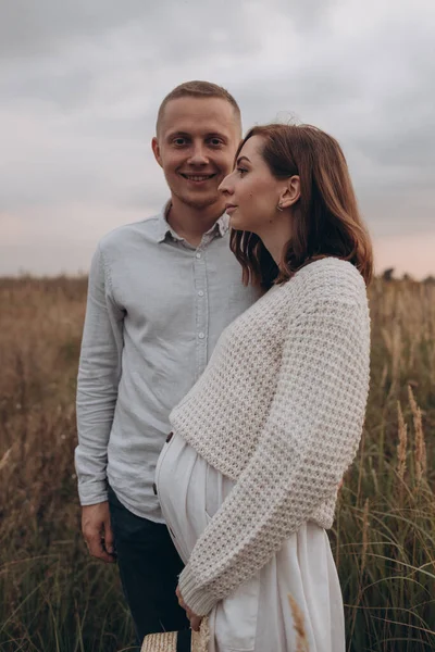
{"label": "man's dark navy jeans below the light blue shirt", "polygon": [[165,525],[132,514],[109,487],[117,565],[138,641],[146,634],[188,629],[175,589],[183,562]]}

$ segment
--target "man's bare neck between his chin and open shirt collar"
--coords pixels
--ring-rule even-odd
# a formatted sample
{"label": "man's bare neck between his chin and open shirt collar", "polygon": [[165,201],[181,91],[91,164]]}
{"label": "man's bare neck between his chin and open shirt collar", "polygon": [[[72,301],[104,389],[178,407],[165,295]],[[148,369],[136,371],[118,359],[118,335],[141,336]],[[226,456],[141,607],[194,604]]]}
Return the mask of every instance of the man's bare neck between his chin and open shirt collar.
{"label": "man's bare neck between his chin and open shirt collar", "polygon": [[224,202],[216,202],[203,209],[188,206],[177,200],[172,199],[170,211],[166,215],[167,224],[189,244],[198,247],[202,236],[211,229],[224,212]]}

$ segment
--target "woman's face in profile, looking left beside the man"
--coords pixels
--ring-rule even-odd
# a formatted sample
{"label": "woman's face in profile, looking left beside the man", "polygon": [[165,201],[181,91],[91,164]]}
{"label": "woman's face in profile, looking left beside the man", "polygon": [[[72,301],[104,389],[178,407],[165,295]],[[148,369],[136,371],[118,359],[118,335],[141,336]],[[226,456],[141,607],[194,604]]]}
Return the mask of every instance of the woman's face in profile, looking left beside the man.
{"label": "woman's face in profile, looking left beside the man", "polygon": [[249,138],[238,155],[234,171],[219,187],[225,197],[229,225],[261,235],[276,217],[276,206],[285,181],[276,179],[262,158],[261,136]]}

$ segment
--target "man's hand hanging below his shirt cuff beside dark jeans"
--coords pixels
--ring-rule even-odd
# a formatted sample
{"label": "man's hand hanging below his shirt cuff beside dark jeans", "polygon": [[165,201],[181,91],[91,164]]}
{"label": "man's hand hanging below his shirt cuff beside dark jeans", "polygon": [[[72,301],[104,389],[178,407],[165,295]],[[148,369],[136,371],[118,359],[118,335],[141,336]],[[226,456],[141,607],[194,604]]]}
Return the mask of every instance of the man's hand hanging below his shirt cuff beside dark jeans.
{"label": "man's hand hanging below his shirt cuff beside dark jeans", "polygon": [[109,564],[115,561],[108,501],[82,507],[82,531],[92,556]]}

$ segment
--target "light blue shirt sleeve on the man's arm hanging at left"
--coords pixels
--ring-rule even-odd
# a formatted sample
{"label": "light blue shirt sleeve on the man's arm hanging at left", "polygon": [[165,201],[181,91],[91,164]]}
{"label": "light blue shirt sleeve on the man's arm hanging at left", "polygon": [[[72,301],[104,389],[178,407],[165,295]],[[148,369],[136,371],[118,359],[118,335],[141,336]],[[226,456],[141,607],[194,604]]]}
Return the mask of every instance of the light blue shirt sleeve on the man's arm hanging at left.
{"label": "light blue shirt sleeve on the man's arm hanging at left", "polygon": [[123,311],[113,300],[110,274],[98,247],[89,272],[77,377],[75,468],[82,505],[107,500],[108,443],[121,378],[123,318]]}

